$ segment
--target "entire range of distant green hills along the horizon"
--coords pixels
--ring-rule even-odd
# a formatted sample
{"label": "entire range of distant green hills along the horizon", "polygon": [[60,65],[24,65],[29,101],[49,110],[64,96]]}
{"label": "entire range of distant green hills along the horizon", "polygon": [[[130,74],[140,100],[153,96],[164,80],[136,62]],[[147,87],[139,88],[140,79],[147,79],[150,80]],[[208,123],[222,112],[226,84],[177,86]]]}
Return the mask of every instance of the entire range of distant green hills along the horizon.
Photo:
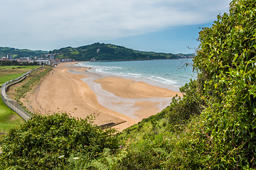
{"label": "entire range of distant green hills along the horizon", "polygon": [[0,57],[6,55],[12,58],[20,57],[41,57],[45,54],[54,54],[55,59],[74,59],[76,61],[125,61],[125,60],[168,60],[179,58],[191,58],[193,54],[171,54],[163,52],[143,52],[132,50],[127,47],[122,47],[112,44],[94,43],[81,47],[63,47],[59,50],[42,51],[42,50],[27,50],[16,49],[13,47],[0,47]]}

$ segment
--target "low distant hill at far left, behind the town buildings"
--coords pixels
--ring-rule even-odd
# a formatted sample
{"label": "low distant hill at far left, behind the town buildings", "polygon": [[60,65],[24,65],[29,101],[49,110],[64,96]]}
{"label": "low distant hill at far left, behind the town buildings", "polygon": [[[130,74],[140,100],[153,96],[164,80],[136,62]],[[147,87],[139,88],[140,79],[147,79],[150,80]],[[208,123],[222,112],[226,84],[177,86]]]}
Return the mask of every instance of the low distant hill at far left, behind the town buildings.
{"label": "low distant hill at far left, behind the town buildings", "polygon": [[20,57],[40,57],[41,55],[47,54],[47,51],[42,50],[27,50],[27,49],[16,49],[13,47],[0,47],[0,57],[6,57],[11,55],[13,58]]}

